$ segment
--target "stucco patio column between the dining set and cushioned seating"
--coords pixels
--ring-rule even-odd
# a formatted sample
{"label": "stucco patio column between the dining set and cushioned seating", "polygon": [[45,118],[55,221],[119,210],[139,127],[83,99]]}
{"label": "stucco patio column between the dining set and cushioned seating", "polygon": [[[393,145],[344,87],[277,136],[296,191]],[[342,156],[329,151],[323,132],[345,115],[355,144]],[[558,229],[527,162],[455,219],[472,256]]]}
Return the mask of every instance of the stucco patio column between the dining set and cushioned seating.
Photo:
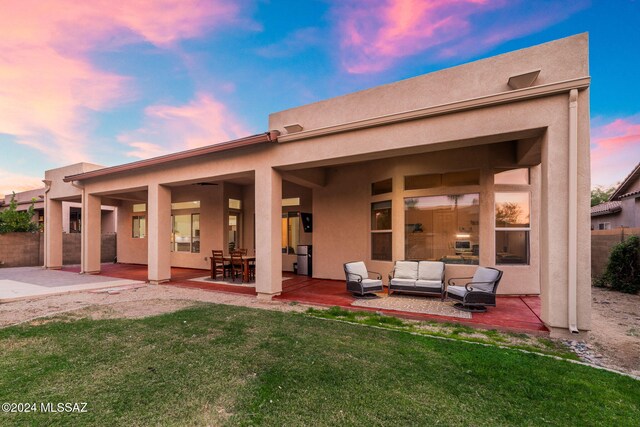
{"label": "stucco patio column between the dining set and cushioned seating", "polygon": [[282,176],[271,167],[255,174],[256,292],[269,300],[282,292]]}

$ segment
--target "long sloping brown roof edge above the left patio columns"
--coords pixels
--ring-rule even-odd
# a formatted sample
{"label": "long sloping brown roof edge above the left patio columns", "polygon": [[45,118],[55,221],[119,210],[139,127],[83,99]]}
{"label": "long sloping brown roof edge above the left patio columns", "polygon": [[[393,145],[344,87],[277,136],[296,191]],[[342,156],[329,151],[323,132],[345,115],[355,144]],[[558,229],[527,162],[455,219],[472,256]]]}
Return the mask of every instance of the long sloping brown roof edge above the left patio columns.
{"label": "long sloping brown roof edge above the left patio columns", "polygon": [[232,141],[221,142],[219,144],[207,145],[206,147],[194,148],[192,150],[180,151],[178,153],[167,154],[164,156],[153,157],[151,159],[139,160],[137,162],[126,163],[124,165],[111,166],[102,169],[96,169],[90,172],[83,172],[76,175],[64,177],[64,182],[81,181],[83,179],[95,178],[98,176],[110,175],[114,173],[126,172],[142,167],[156,166],[163,163],[169,163],[176,160],[188,159],[192,157],[202,156],[204,154],[216,153],[220,151],[228,151],[236,148],[247,147],[250,145],[270,143],[278,141],[278,131],[260,133],[245,138],[234,139]]}

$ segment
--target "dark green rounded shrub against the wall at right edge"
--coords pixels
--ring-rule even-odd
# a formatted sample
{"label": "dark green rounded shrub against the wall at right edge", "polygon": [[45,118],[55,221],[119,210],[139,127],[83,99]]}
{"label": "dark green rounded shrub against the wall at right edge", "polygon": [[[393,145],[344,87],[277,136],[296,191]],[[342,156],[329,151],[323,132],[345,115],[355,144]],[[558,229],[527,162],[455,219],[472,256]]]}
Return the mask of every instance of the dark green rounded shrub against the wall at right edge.
{"label": "dark green rounded shrub against the wall at right edge", "polygon": [[604,274],[598,281],[616,291],[635,294],[640,291],[640,238],[631,236],[613,247]]}

